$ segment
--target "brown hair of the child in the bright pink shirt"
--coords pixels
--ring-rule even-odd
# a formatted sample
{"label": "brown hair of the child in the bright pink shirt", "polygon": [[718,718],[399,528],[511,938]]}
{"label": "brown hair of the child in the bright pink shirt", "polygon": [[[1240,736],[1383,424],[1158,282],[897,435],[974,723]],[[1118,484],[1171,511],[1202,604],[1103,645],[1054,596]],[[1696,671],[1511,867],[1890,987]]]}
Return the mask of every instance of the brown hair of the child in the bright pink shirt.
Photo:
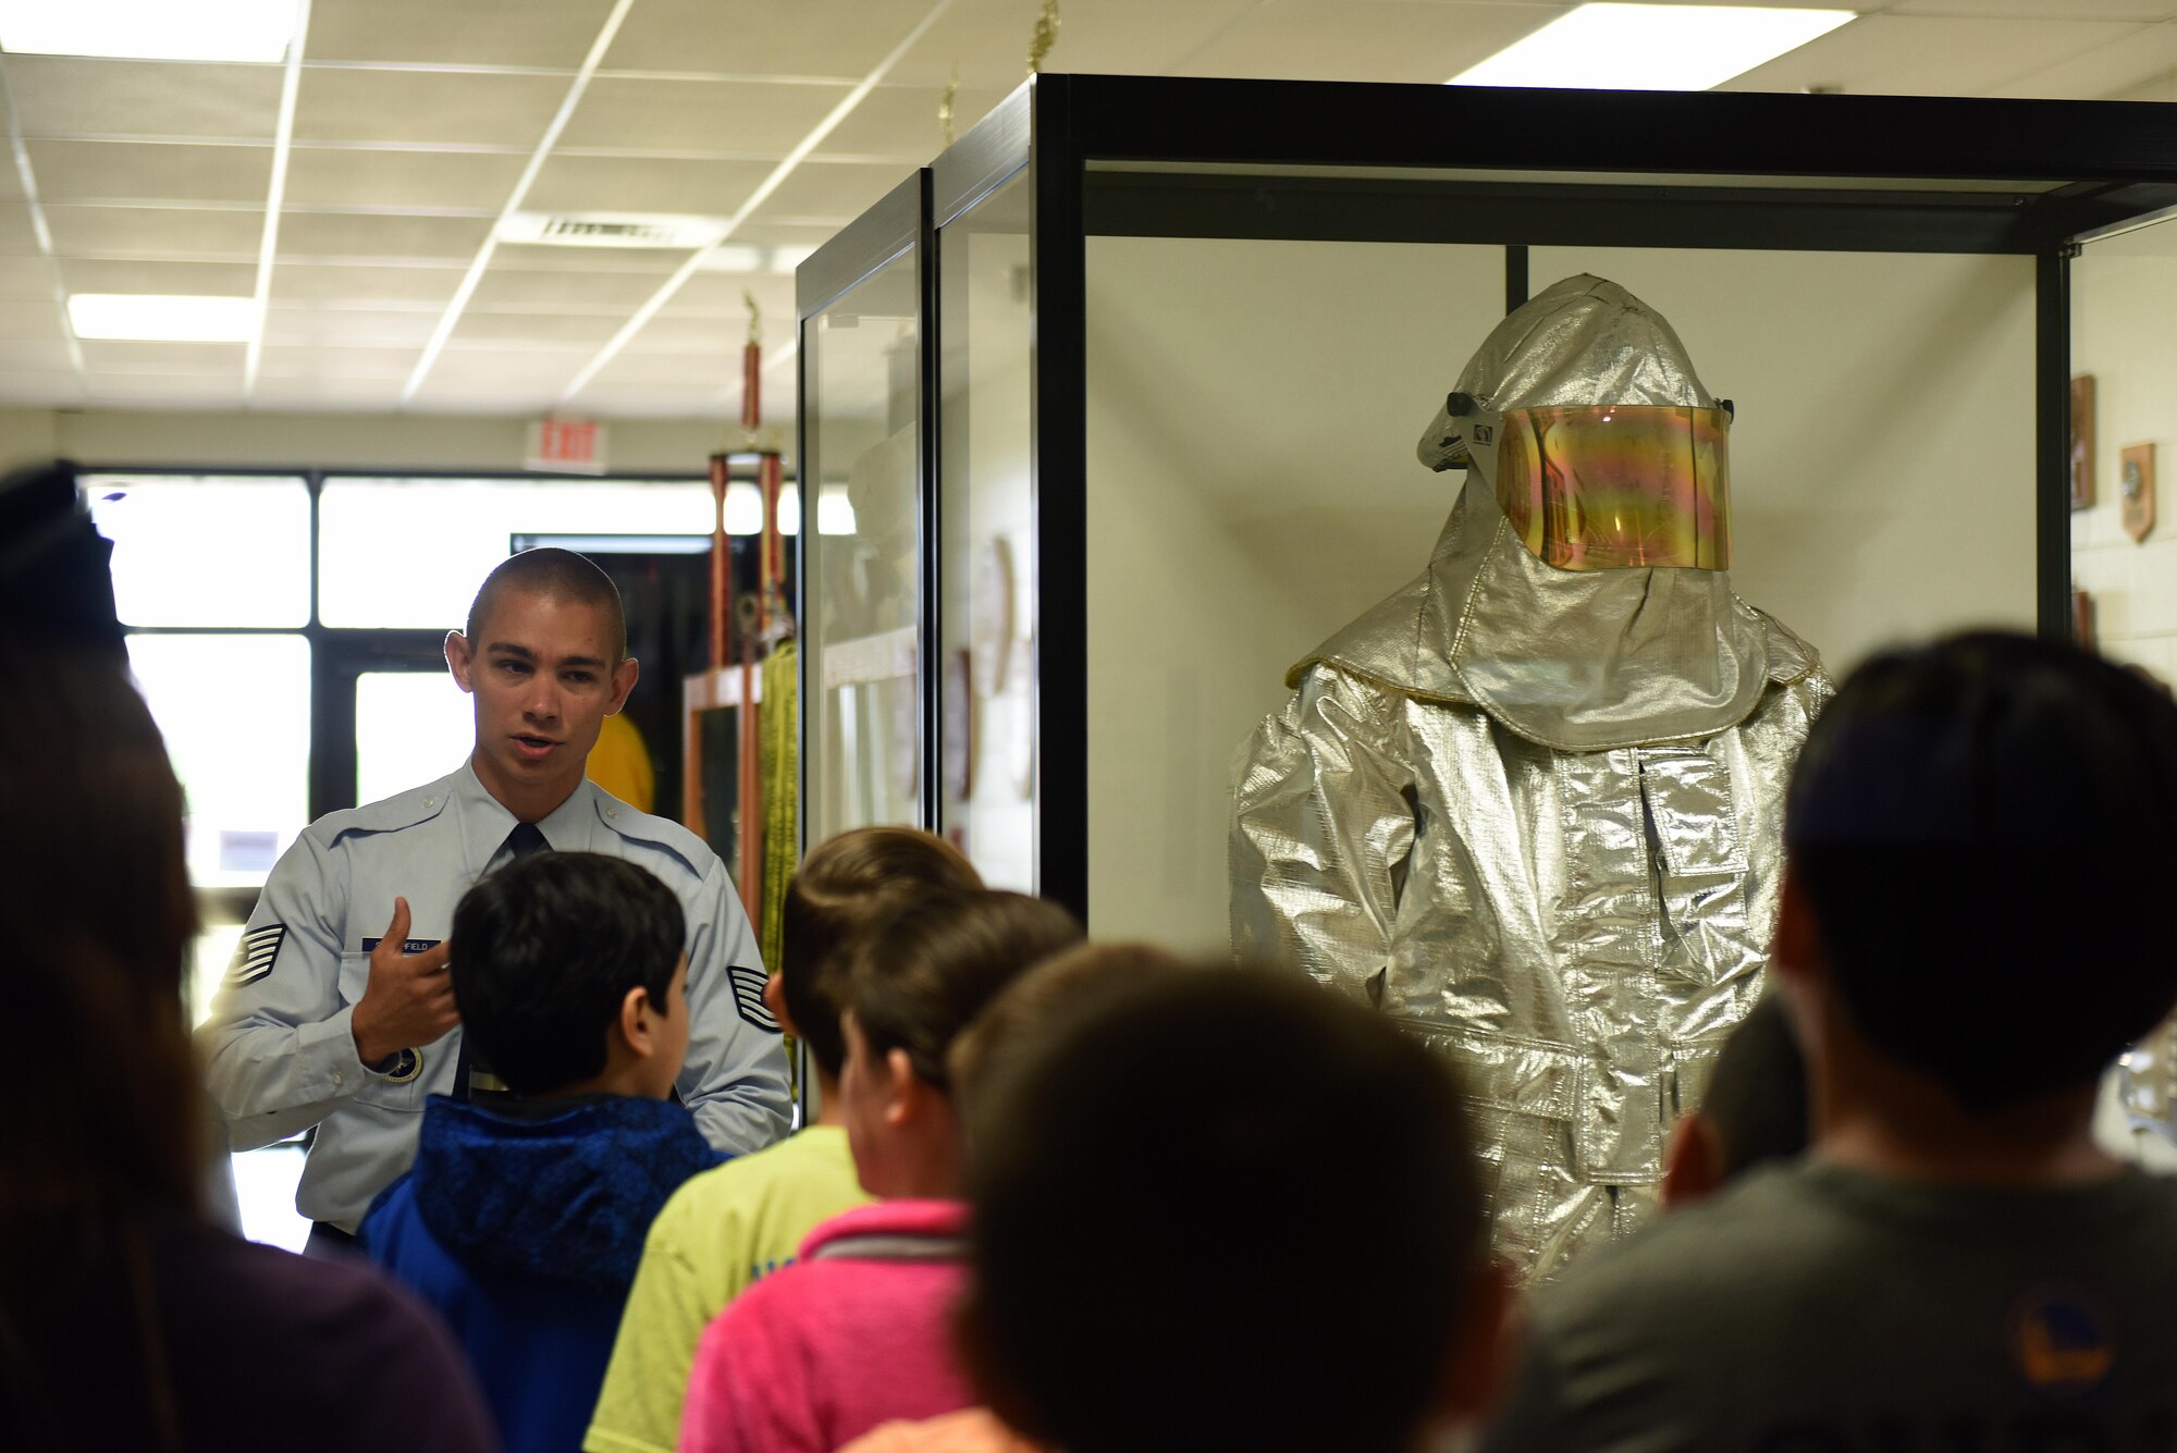
{"label": "brown hair of the child in the bright pink shirt", "polygon": [[1073,914],[1045,898],[932,894],[862,933],[845,1007],[873,1055],[903,1048],[917,1079],[949,1090],[954,1038],[999,990],[1080,937]]}

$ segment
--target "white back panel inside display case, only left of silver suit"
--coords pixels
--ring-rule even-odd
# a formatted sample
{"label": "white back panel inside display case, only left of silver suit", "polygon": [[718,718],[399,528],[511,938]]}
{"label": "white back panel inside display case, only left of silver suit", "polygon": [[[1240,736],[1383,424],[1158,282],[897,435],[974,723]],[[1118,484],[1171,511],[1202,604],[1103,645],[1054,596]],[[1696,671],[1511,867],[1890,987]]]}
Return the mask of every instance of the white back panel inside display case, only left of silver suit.
{"label": "white back panel inside display case, only left of silver suit", "polygon": [[1091,933],[1223,951],[1232,750],[1428,563],[1502,311],[1500,248],[1088,239]]}

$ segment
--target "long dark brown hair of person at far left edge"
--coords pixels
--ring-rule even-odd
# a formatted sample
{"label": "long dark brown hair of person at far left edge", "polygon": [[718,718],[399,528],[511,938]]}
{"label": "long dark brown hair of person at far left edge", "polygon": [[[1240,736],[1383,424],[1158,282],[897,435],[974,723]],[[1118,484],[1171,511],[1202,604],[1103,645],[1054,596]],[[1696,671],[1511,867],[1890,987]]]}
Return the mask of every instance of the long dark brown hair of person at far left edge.
{"label": "long dark brown hair of person at far left edge", "polygon": [[0,1442],[181,1449],[146,1238],[202,1157],[181,783],[113,659],[0,637],[0,998],[39,1094],[0,1116]]}

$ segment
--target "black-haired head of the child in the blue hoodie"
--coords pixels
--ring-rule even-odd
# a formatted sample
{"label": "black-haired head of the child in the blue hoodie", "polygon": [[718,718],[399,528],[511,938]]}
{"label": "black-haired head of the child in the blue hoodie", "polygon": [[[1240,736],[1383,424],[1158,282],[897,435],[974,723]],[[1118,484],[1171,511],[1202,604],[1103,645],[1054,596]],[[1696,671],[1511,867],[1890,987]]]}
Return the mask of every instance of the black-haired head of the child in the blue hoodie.
{"label": "black-haired head of the child in the blue hoodie", "polygon": [[536,853],[453,911],[462,1033],[516,1094],[666,1098],[688,1053],[686,920],[642,868]]}

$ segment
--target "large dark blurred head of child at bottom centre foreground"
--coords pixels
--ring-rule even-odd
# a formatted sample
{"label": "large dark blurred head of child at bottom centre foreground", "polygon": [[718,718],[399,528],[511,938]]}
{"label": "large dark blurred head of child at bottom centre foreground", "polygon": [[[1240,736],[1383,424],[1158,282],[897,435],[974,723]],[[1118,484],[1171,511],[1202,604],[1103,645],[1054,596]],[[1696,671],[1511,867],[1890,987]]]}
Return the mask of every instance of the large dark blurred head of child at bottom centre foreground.
{"label": "large dark blurred head of child at bottom centre foreground", "polygon": [[1452,1068],[1291,970],[1143,979],[977,1085],[991,1409],[1067,1453],[1404,1453],[1487,1222]]}

